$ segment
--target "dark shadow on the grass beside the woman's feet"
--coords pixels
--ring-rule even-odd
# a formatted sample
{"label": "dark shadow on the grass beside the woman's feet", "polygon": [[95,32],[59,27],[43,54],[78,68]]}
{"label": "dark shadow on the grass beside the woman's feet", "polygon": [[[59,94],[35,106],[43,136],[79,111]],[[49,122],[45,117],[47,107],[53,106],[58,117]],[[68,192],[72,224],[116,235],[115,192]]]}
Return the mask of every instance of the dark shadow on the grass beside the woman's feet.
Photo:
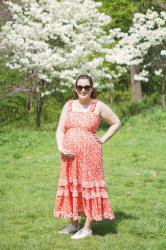
{"label": "dark shadow on the grass beside the woman's feet", "polygon": [[[115,219],[113,220],[108,220],[104,219],[102,221],[94,221],[92,224],[92,229],[94,235],[100,235],[104,236],[106,234],[117,234],[117,227],[118,224],[123,221],[123,220],[128,220],[128,219],[135,219],[137,220],[138,217],[132,216],[130,214],[126,214],[122,211],[114,212],[115,214]],[[80,224],[83,226],[85,223],[85,218],[81,218]]]}

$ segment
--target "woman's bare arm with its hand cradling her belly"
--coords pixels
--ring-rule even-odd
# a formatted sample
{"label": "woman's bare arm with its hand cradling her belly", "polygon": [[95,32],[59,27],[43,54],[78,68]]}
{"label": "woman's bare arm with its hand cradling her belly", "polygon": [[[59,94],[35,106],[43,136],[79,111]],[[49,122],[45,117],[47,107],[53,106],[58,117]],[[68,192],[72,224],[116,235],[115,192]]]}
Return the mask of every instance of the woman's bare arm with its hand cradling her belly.
{"label": "woman's bare arm with its hand cradling her belly", "polygon": [[69,151],[63,148],[63,140],[64,140],[64,131],[65,131],[65,121],[68,113],[68,103],[63,106],[58,127],[56,130],[56,142],[58,150],[61,154],[66,157],[73,157],[74,155]]}

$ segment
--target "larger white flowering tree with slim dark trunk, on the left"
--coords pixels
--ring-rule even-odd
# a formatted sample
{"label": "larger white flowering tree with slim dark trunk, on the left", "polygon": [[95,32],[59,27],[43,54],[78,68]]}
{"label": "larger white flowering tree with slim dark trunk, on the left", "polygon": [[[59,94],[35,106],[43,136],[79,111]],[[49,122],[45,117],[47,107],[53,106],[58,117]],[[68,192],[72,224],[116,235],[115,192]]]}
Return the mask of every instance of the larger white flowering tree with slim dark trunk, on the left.
{"label": "larger white flowering tree with slim dark trunk, on the left", "polygon": [[[1,32],[1,48],[10,51],[8,66],[25,71],[37,100],[37,126],[45,95],[71,87],[81,73],[96,82],[110,81],[105,66],[110,38],[103,27],[111,18],[92,0],[21,0],[5,2],[12,20]],[[52,86],[50,88],[50,86]],[[53,87],[54,86],[54,87]]]}

